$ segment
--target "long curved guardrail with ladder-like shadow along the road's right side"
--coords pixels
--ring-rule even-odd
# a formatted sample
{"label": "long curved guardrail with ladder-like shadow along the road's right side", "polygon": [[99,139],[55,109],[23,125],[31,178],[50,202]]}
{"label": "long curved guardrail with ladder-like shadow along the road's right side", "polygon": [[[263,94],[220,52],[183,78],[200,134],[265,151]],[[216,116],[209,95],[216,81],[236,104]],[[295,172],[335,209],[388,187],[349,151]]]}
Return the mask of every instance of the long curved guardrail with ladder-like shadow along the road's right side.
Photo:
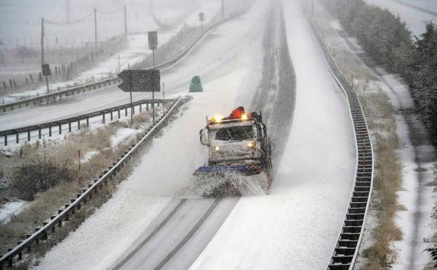
{"label": "long curved guardrail with ladder-like shadow along the road's right side", "polygon": [[347,97],[351,121],[354,126],[357,156],[354,188],[351,191],[343,227],[340,230],[337,244],[328,264],[328,270],[351,270],[354,269],[363,238],[365,219],[372,194],[374,166],[372,142],[370,141],[368,125],[356,91],[335,64],[335,60],[330,55],[328,48],[316,32],[316,29],[314,29],[311,19],[308,21],[330,73]]}

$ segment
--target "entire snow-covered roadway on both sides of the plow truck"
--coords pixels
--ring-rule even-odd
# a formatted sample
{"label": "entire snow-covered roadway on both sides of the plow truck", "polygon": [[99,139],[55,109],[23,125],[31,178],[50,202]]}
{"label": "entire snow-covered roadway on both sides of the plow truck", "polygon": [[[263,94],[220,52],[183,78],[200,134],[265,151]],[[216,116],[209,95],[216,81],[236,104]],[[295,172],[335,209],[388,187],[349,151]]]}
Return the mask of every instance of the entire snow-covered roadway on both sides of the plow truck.
{"label": "entire snow-covered roadway on both sides of the plow truck", "polygon": [[[109,269],[123,260],[121,269],[149,269],[181,243],[213,202],[192,198],[190,189],[191,174],[207,158],[199,130],[205,115],[226,114],[238,105],[250,109],[265,64],[260,33],[269,21],[269,6],[268,1],[257,1],[248,13],[215,29],[189,57],[164,72],[170,93],[184,92],[197,74],[205,92],[194,94],[114,196],[35,269]],[[354,182],[354,135],[346,98],[323,62],[302,8],[297,1],[285,1],[283,9],[275,8],[274,23],[282,11],[297,84],[293,128],[282,138],[283,155],[275,164],[271,193],[220,201],[164,268],[328,265]],[[279,112],[293,110],[281,99],[274,105]],[[272,123],[286,126],[289,121]],[[191,198],[175,214],[179,218],[142,245],[180,203],[174,197],[187,196]]]}

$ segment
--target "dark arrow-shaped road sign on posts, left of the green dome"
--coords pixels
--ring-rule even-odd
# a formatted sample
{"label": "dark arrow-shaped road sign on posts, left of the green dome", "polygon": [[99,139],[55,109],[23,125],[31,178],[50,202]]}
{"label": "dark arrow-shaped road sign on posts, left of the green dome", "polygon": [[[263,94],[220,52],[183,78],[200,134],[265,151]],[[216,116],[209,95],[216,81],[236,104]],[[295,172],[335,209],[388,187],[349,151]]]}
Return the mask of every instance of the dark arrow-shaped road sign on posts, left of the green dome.
{"label": "dark arrow-shaped road sign on posts, left of the green dome", "polygon": [[[132,92],[152,92],[152,113],[153,123],[155,123],[154,93],[161,92],[161,73],[159,69],[123,70],[119,74],[119,78],[123,80],[119,88],[125,92],[130,92],[130,95],[132,95]],[[133,123],[132,116],[130,121]]]}

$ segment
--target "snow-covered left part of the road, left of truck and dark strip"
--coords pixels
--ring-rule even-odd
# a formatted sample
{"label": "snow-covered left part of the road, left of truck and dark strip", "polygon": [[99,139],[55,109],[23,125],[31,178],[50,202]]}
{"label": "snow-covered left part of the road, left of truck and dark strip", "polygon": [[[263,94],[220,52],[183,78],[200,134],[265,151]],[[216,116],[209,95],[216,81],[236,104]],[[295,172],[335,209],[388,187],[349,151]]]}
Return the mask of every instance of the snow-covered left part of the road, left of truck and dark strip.
{"label": "snow-covered left part of the road, left of truck and dark strip", "polygon": [[[165,215],[168,203],[172,202],[168,197],[189,193],[187,187],[191,186],[191,175],[203,164],[207,155],[198,138],[205,115],[229,112],[236,104],[248,104],[251,101],[247,97],[254,93],[259,81],[257,78],[262,72],[263,48],[262,35],[259,33],[263,31],[266,20],[266,6],[268,3],[259,1],[247,15],[222,25],[189,57],[168,70],[168,76],[175,78],[186,77],[191,72],[193,75],[200,74],[205,92],[196,93],[189,108],[182,111],[183,116],[170,123],[163,135],[154,140],[147,154],[141,158],[137,170],[120,184],[113,198],[53,248],[36,269],[106,269],[113,266],[125,257],[126,250],[135,247],[137,239],[144,235],[149,225],[153,226],[156,217]],[[187,81],[191,79],[191,74]],[[179,90],[185,91],[186,87],[183,85]],[[245,96],[246,100],[239,98]],[[192,200],[190,204],[194,203],[196,207],[183,208],[180,213],[189,224],[196,222],[199,214],[203,215],[203,206],[208,208],[210,205],[210,201],[203,199]],[[206,245],[208,237],[213,237],[232,208],[225,206],[228,203],[233,206],[234,201],[223,200],[217,205],[204,223],[205,226],[191,237],[190,243],[194,244],[187,243],[185,247],[188,251],[180,250],[175,258],[187,252],[184,259],[191,255],[191,261],[194,261],[201,248],[194,250],[199,249],[201,243]],[[186,233],[186,230],[181,230],[181,234]],[[174,248],[171,246],[174,241],[169,241],[168,245],[166,243],[159,245],[160,249],[156,251],[159,252],[158,257],[166,257],[169,248]],[[72,250],[81,252],[68,256]],[[168,263],[172,264],[171,261]]]}

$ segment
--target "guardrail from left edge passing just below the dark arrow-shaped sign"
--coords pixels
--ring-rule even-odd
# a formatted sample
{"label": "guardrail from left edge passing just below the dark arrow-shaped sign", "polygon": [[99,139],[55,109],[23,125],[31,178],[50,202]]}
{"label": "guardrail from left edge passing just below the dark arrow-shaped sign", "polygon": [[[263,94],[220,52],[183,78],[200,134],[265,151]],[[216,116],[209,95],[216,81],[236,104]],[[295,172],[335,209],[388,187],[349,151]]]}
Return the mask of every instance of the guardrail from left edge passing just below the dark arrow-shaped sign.
{"label": "guardrail from left edge passing just below the dark arrow-shaped sign", "polygon": [[[165,102],[173,102],[173,100],[154,100],[155,104],[165,103]],[[146,110],[149,110],[149,104],[152,104],[152,100],[138,100],[136,102],[132,102],[133,114],[135,114],[135,107],[139,107],[139,111],[142,112],[142,105],[146,104]],[[89,119],[95,116],[102,116],[102,123],[106,123],[106,115],[109,114],[109,118],[112,121],[114,119],[114,112],[117,113],[118,119],[121,118],[121,111],[125,111],[125,116],[128,116],[128,109],[130,109],[130,103],[122,104],[116,107],[111,107],[107,109],[101,109],[100,111],[91,112],[89,114],[81,114],[78,116],[69,117],[67,119],[60,119],[57,121],[51,121],[46,123],[39,123],[32,126],[26,126],[22,128],[14,128],[11,130],[1,130],[0,136],[4,137],[4,145],[8,145],[8,136],[15,135],[15,143],[20,142],[20,135],[27,133],[27,141],[30,141],[30,133],[33,131],[38,131],[38,137],[41,139],[41,130],[48,129],[48,136],[52,136],[52,128],[58,127],[59,134],[62,134],[62,125],[68,124],[68,132],[72,131],[72,123],[77,123],[77,128],[81,129],[81,121],[85,121],[86,126],[89,126]]]}

